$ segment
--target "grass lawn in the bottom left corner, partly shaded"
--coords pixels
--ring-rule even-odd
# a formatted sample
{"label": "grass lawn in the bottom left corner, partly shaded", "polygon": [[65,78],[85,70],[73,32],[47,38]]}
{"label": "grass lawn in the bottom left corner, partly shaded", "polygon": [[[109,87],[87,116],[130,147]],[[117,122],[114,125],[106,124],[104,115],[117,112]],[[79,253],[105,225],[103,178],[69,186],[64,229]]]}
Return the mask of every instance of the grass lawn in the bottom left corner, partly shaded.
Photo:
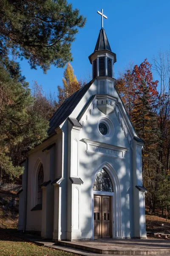
{"label": "grass lawn in the bottom left corner, partly shaded", "polygon": [[62,250],[50,249],[10,235],[0,229],[0,256],[76,256]]}

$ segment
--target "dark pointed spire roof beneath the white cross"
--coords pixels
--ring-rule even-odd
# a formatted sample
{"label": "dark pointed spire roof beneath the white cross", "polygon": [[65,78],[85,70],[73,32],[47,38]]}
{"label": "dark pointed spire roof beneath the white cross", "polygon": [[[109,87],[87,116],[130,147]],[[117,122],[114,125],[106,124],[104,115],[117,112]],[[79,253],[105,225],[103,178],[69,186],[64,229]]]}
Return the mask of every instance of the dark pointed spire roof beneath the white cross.
{"label": "dark pointed spire roof beneath the white cross", "polygon": [[100,29],[99,36],[97,39],[96,47],[94,49],[95,51],[102,51],[102,50],[109,50],[111,51],[110,44],[108,42],[107,35],[105,33],[105,29]]}

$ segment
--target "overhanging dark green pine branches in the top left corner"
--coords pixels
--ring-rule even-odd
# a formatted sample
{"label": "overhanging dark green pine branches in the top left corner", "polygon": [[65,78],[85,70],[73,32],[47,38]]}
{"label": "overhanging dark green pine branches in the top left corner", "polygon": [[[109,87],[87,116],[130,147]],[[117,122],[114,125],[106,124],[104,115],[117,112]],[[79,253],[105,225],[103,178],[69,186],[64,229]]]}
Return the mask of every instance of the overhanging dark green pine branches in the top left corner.
{"label": "overhanging dark green pine branches in the top left corner", "polygon": [[67,0],[1,0],[0,58],[26,58],[46,72],[72,61],[71,43],[86,19]]}

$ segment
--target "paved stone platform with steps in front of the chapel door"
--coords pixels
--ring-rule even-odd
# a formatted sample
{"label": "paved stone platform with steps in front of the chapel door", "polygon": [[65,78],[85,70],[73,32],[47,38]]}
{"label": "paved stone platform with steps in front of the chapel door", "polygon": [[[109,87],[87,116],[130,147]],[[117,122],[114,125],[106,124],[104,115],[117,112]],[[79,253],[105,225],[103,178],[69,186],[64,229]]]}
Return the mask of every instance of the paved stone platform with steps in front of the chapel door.
{"label": "paved stone platform with steps in front of the chapel door", "polygon": [[159,239],[97,239],[93,241],[59,241],[62,247],[91,254],[113,255],[170,255],[170,240]]}

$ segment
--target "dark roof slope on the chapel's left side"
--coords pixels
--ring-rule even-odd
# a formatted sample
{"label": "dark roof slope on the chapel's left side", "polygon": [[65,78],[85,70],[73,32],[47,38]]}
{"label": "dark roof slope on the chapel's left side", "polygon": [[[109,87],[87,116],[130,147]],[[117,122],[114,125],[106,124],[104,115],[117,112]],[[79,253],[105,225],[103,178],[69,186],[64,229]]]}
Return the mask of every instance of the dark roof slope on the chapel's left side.
{"label": "dark roof slope on the chapel's left side", "polygon": [[74,108],[79,103],[82,96],[85,95],[88,88],[91,86],[94,80],[91,80],[88,84],[80,88],[77,92],[72,94],[69,98],[65,100],[65,102],[57,109],[54,115],[50,119],[48,136],[51,136],[55,133],[55,129],[68,118],[68,116],[72,113]]}

